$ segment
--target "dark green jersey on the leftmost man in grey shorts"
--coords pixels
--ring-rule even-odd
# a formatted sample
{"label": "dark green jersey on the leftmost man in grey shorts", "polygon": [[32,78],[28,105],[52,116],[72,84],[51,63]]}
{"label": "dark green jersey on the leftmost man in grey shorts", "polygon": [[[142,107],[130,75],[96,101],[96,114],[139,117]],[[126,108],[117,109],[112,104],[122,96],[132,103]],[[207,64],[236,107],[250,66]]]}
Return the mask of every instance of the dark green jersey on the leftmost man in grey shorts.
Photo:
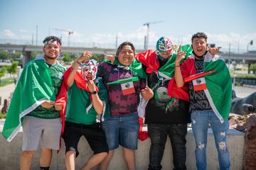
{"label": "dark green jersey on the leftmost man in grey shorts", "polygon": [[[47,65],[50,73],[50,78],[53,83],[54,93],[55,93],[55,96],[57,96],[58,92],[60,91],[60,86],[63,80],[63,74],[66,69],[58,62],[56,62],[53,65],[50,65],[50,64],[47,64]],[[43,108],[42,106],[38,106],[31,113],[28,113],[28,115],[34,116],[36,118],[53,119],[53,118],[60,117],[60,111],[55,111],[54,106],[49,109]]]}

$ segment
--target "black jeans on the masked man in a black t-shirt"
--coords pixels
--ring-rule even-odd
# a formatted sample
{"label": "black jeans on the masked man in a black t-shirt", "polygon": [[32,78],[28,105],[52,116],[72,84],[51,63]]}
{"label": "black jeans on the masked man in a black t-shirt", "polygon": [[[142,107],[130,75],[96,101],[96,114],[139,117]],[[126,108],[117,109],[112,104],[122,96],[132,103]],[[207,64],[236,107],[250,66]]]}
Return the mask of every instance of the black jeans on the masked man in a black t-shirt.
{"label": "black jeans on the masked man in a black t-shirt", "polygon": [[168,135],[173,151],[174,170],[185,170],[187,124],[149,123],[148,130],[151,140],[149,170],[162,169],[161,159]]}

